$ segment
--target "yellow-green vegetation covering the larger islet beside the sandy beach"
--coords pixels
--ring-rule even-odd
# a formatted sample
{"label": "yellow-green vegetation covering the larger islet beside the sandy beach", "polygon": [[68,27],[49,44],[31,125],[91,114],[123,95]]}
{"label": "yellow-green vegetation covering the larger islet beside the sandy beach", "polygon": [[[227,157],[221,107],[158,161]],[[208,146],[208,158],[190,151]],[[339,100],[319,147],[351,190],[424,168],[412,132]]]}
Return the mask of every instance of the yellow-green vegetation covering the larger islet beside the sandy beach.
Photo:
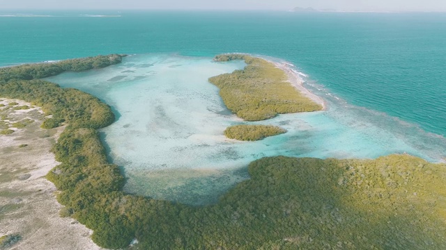
{"label": "yellow-green vegetation covering the larger islet beside the sandy beach", "polygon": [[220,55],[215,60],[245,60],[247,64],[243,70],[209,78],[220,88],[224,104],[238,117],[258,121],[277,114],[322,109],[293,88],[282,69],[266,60],[243,54]]}

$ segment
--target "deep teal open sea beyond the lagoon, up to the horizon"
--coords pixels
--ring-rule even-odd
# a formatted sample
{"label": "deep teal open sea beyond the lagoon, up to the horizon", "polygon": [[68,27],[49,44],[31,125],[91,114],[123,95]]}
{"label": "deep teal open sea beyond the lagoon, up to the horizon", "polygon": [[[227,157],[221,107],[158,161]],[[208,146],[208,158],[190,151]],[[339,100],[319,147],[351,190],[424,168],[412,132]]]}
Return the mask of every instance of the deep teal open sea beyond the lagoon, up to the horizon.
{"label": "deep teal open sea beyond the lagoon, up to the horizon", "polygon": [[263,54],[348,103],[446,135],[445,13],[26,13],[57,17],[0,17],[0,65],[104,53]]}

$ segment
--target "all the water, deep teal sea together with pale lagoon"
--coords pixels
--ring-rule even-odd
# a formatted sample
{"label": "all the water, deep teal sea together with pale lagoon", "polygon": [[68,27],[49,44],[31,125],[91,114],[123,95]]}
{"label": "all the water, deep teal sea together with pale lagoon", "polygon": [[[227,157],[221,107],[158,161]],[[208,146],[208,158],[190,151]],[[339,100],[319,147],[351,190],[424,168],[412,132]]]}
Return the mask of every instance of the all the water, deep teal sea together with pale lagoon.
{"label": "all the water, deep teal sea together with pale lagoon", "polygon": [[[190,203],[215,199],[246,178],[238,167],[262,156],[376,158],[406,152],[444,160],[445,45],[445,13],[0,10],[0,66],[137,54],[121,65],[50,80],[95,94],[119,113],[102,133],[114,163],[130,177],[128,192],[182,202],[198,197]],[[211,63],[216,54],[231,52],[295,65],[328,111],[271,119],[289,133],[261,142],[221,143],[224,127],[238,120],[224,113],[206,79],[243,67]],[[185,88],[192,82],[197,85]],[[197,130],[206,124],[204,132]],[[158,131],[146,133],[149,128]],[[194,173],[187,178],[184,169]],[[184,190],[201,193],[187,196]]]}

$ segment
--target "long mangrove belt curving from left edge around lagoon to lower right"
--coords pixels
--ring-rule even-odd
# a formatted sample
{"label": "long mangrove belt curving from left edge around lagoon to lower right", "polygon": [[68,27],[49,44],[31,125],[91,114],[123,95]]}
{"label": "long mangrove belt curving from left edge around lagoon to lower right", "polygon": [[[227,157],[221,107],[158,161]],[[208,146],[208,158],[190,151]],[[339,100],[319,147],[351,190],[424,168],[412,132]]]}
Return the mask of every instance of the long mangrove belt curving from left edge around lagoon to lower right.
{"label": "long mangrove belt curving from left edge around lagoon to lower right", "polygon": [[[245,60],[249,65],[254,59]],[[44,75],[46,69],[38,71],[33,74]],[[47,127],[66,124],[52,148],[61,165],[47,178],[60,191],[57,199],[65,206],[61,215],[91,228],[100,247],[124,248],[134,238],[139,241],[135,249],[446,247],[445,164],[407,155],[376,160],[262,158],[249,164],[251,178],[220,202],[185,206],[122,191],[123,175],[108,163],[96,131],[114,119],[99,99],[21,78],[3,78],[0,97],[42,106],[52,115]]]}

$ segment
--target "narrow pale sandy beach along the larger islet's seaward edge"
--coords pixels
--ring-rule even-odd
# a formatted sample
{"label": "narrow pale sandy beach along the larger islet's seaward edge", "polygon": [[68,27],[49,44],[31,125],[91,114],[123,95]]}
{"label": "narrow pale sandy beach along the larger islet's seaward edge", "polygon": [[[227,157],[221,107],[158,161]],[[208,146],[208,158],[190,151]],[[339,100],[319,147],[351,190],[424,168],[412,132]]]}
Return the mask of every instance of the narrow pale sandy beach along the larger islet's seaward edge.
{"label": "narrow pale sandy beach along the larger islet's seaward edge", "polygon": [[[268,60],[268,59],[265,59],[265,60]],[[289,83],[296,90],[298,90],[298,92],[303,94],[305,97],[308,97],[309,99],[311,99],[315,103],[318,103],[319,105],[321,105],[322,106],[322,110],[326,110],[327,109],[327,105],[325,103],[325,100],[322,99],[322,97],[319,97],[318,95],[313,94],[307,88],[305,88],[303,86],[304,81],[302,81],[302,78],[300,78],[300,76],[298,76],[298,74],[293,72],[293,69],[291,69],[291,67],[287,63],[284,63],[284,62],[280,62],[279,63],[279,62],[275,62],[275,61],[272,61],[272,60],[268,60],[268,62],[274,64],[277,68],[279,68],[283,72],[285,72],[286,76],[288,76]]]}

